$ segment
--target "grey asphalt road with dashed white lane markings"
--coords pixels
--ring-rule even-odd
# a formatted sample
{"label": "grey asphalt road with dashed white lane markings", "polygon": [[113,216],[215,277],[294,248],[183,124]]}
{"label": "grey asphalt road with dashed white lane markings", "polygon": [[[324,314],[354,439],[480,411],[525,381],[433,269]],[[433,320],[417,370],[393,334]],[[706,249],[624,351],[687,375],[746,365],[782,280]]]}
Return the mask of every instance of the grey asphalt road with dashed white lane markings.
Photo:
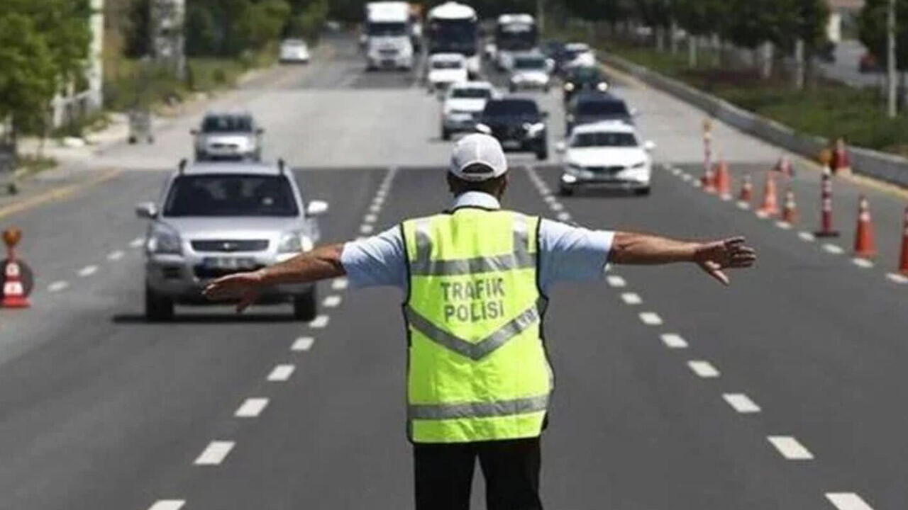
{"label": "grey asphalt road with dashed white lane markings", "polygon": [[[444,208],[438,102],[413,75],[366,73],[353,44],[334,44],[330,59],[216,106],[252,110],[269,154],[331,202],[328,241]],[[814,170],[792,183],[803,220],[781,228],[685,178],[699,175],[701,113],[630,81],[616,93],[658,144],[653,195],[562,199],[557,161],[517,155],[506,205],[595,228],[745,234],[761,260],[727,289],[692,267],[618,267],[556,289],[547,507],[904,508],[908,284],[886,276],[903,198],[837,179],[843,237],[809,240]],[[558,93],[538,98],[555,142]],[[324,282],[308,325],[289,307],[144,322],[133,203],[157,196],[197,121],[99,156],[99,169],[123,169],[113,179],[0,220],[25,231],[39,277],[33,308],[0,310],[0,508],[411,507],[398,291]],[[716,145],[735,182],[753,172],[758,196],[779,152],[721,125]],[[873,203],[873,267],[849,255],[859,192]]]}

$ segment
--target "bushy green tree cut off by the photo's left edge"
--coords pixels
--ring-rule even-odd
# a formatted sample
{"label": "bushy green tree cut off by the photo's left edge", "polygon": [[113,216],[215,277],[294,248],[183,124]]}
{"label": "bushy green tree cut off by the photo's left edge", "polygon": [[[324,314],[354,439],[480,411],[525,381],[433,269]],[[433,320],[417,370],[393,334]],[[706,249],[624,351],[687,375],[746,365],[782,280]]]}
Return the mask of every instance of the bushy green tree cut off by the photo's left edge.
{"label": "bushy green tree cut off by the photo's left edge", "polygon": [[54,52],[34,20],[0,15],[0,118],[11,120],[14,146],[19,132],[43,131],[57,77]]}

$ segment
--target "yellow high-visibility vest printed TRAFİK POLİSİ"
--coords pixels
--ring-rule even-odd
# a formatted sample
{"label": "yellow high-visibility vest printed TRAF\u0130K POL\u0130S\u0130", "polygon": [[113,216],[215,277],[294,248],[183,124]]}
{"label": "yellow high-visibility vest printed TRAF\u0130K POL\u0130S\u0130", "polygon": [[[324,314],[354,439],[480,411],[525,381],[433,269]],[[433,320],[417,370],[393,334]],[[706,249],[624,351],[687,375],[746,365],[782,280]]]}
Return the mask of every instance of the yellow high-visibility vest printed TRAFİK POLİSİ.
{"label": "yellow high-visibility vest printed TRAF\u0130K POL\u0130S\u0130", "polygon": [[541,334],[538,224],[475,208],[403,223],[411,441],[541,433],[553,379]]}

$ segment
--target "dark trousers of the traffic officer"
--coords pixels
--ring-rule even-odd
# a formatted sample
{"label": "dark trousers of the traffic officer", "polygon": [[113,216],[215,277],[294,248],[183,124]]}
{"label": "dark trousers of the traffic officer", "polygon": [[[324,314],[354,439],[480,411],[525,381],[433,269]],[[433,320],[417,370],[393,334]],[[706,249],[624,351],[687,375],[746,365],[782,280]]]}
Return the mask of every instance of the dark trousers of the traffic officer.
{"label": "dark trousers of the traffic officer", "polygon": [[488,510],[542,510],[538,437],[413,445],[416,510],[469,510],[477,457]]}

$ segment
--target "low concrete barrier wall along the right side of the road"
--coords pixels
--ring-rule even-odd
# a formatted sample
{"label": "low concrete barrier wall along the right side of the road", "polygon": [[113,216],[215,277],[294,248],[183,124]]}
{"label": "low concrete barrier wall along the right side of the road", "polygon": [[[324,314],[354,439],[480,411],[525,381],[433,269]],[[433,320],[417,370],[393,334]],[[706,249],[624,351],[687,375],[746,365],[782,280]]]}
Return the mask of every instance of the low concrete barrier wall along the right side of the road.
{"label": "low concrete barrier wall along the right side of the road", "polygon": [[[656,89],[696,106],[723,123],[800,154],[807,159],[815,160],[821,150],[830,146],[830,142],[823,137],[796,132],[784,124],[747,112],[714,95],[699,91],[686,83],[658,74],[616,55],[608,54],[607,63]],[[848,150],[854,172],[908,187],[908,159],[860,147],[849,147]]]}

